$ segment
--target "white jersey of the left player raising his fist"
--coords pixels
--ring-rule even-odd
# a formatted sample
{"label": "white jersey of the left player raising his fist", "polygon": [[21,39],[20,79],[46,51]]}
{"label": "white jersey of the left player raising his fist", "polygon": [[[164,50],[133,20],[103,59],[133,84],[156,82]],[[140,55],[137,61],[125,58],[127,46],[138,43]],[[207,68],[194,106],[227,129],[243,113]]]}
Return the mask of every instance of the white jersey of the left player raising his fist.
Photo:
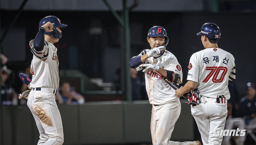
{"label": "white jersey of the left player raising his fist", "polygon": [[31,40],[29,45],[34,56],[31,62],[33,79],[30,87],[57,89],[59,87],[57,48],[50,42],[44,41],[43,50],[37,52],[33,44],[34,41]]}

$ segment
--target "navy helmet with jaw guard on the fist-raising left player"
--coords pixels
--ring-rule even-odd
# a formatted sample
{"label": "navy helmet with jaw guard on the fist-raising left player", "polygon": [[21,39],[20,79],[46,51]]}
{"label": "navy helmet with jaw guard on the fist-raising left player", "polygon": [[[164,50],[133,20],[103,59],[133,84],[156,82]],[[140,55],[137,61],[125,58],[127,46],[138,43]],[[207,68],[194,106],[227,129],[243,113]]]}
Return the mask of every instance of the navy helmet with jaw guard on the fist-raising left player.
{"label": "navy helmet with jaw guard on the fist-raising left player", "polygon": [[47,16],[47,17],[44,17],[39,22],[39,29],[41,26],[43,26],[47,22],[51,22],[53,24],[53,31],[52,32],[44,32],[44,34],[51,35],[54,38],[60,39],[62,37],[62,34],[57,30],[56,27],[65,28],[68,25],[61,24],[60,19],[55,16]]}

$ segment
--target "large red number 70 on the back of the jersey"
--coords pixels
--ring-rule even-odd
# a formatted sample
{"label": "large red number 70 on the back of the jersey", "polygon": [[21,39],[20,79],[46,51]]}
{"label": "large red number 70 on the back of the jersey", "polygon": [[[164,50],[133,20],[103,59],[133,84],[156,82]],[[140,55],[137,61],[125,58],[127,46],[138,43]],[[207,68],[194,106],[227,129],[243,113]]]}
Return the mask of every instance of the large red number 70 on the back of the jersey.
{"label": "large red number 70 on the back of the jersey", "polygon": [[[212,75],[214,74],[213,78],[212,78],[212,82],[213,83],[221,83],[227,73],[227,68],[224,66],[211,66],[211,67],[206,67],[205,70],[211,70],[211,72],[209,73],[209,75],[207,75],[207,77],[203,80],[203,83],[208,82],[208,80],[212,77]],[[220,78],[217,79],[217,77],[219,76],[220,70],[222,71],[222,74],[220,75]]]}

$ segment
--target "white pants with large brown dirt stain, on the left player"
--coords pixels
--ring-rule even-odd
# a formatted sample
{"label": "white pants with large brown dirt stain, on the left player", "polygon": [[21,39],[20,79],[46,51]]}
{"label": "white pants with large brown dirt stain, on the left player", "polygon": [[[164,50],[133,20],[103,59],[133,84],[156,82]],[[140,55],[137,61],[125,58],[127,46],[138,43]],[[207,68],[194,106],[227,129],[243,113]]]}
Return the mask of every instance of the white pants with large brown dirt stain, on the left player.
{"label": "white pants with large brown dirt stain, on the left player", "polygon": [[32,89],[27,97],[27,106],[34,116],[40,133],[37,145],[63,144],[62,121],[53,89],[44,88],[41,91]]}

